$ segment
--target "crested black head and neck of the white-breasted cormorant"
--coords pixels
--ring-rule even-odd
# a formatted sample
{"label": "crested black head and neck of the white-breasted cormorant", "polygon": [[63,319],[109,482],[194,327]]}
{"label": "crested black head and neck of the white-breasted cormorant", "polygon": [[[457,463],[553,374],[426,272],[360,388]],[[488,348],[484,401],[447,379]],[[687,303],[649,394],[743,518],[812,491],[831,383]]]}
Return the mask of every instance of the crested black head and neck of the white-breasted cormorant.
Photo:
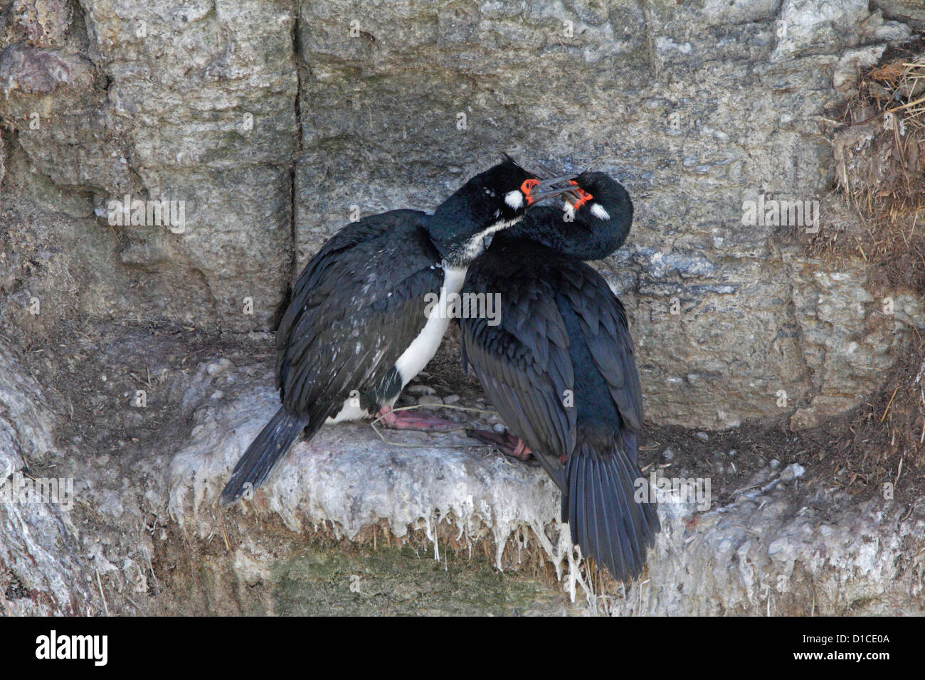
{"label": "crested black head and neck of the white-breasted cormorant", "polygon": [[428,227],[443,259],[450,266],[468,266],[485,249],[487,237],[516,224],[539,198],[564,191],[539,184],[508,155],[463,184],[438,206]]}

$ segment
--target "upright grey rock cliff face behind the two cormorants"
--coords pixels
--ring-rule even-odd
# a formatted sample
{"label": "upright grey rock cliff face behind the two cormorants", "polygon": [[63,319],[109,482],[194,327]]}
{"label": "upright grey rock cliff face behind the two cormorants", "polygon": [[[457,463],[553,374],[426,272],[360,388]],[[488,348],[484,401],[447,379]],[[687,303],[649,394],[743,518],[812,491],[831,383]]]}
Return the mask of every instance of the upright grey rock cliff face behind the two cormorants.
{"label": "upright grey rock cliff face behind the two cormorants", "polygon": [[[599,268],[658,424],[818,425],[925,328],[916,291],[876,283],[864,253],[807,254],[817,227],[854,219],[832,193],[830,111],[925,27],[918,0],[0,4],[0,318],[17,345],[84,324],[270,330],[336,229],[430,209],[502,151],[628,187],[633,231]],[[802,220],[758,218],[784,200]],[[144,204],[132,223],[134,201],[174,219]]]}

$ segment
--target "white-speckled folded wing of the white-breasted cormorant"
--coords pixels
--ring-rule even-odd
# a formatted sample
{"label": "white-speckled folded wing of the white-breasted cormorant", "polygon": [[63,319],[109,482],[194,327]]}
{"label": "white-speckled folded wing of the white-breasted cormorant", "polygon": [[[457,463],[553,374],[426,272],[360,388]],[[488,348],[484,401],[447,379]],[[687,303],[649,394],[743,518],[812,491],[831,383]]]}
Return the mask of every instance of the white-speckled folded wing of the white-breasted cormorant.
{"label": "white-speckled folded wing of the white-breasted cormorant", "polygon": [[443,282],[425,217],[367,217],[305,266],[277,331],[277,388],[288,410],[339,405],[351,389],[373,389],[424,328],[425,294]]}

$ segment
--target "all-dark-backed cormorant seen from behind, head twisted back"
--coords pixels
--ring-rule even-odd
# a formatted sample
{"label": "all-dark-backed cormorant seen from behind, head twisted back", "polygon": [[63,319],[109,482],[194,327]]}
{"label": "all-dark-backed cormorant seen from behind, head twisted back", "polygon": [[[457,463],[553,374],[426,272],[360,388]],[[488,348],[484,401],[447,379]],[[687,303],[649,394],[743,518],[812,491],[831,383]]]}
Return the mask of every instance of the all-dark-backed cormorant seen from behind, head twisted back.
{"label": "all-dark-backed cormorant seen from behind, head twisted back", "polygon": [[561,488],[573,543],[627,580],[660,531],[655,503],[635,501],[642,389],[623,304],[583,260],[623,245],[633,204],[603,173],[573,184],[564,214],[537,207],[469,268],[463,294],[499,292],[501,309],[496,326],[461,319],[463,366],[516,438],[470,434],[532,452]]}

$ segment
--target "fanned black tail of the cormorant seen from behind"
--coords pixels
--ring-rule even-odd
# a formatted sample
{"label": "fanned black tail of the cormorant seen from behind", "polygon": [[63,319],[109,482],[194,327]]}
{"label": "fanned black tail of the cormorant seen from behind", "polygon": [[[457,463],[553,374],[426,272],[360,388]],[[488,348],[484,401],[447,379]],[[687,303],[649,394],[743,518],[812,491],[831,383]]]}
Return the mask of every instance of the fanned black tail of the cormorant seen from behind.
{"label": "fanned black tail of the cormorant seen from behind", "polygon": [[562,520],[569,524],[572,542],[618,580],[642,573],[661,526],[654,501],[635,501],[635,480],[642,477],[638,465],[616,442],[607,451],[579,442],[565,476]]}

